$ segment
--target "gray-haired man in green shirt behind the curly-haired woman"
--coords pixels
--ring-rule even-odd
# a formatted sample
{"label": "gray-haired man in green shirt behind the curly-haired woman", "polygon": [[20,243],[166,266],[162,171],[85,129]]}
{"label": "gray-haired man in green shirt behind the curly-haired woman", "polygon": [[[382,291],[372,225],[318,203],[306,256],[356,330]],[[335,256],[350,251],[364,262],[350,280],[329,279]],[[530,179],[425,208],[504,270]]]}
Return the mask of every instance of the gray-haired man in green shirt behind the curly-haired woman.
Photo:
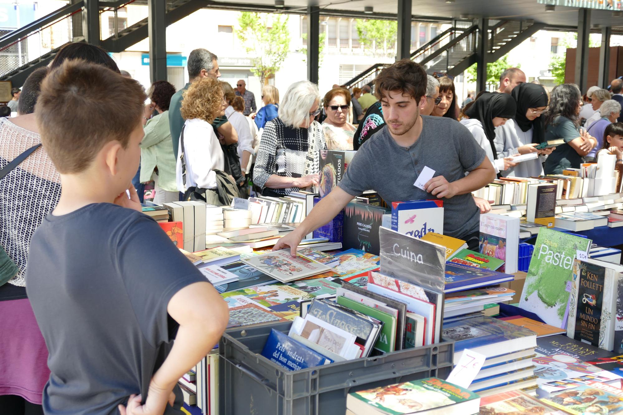
{"label": "gray-haired man in green shirt behind the curly-haired woman", "polygon": [[171,130],[171,140],[173,140],[175,158],[178,158],[179,135],[184,126],[184,118],[182,118],[180,112],[183,99],[182,94],[197,78],[211,77],[217,79],[220,77],[221,72],[219,71],[217,59],[215,54],[202,48],[194,49],[188,55],[188,62],[186,64],[188,69],[188,83],[171,97],[171,104],[169,105],[169,130]]}

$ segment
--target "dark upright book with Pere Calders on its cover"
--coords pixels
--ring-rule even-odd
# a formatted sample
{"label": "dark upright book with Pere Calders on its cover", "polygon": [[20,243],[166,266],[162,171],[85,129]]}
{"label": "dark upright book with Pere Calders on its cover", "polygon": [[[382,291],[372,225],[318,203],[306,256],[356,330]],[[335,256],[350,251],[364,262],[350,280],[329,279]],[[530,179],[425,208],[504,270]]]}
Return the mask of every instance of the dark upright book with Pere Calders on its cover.
{"label": "dark upright book with Pere Calders on its cover", "polygon": [[347,204],[344,209],[343,247],[378,255],[379,227],[386,213],[386,209],[379,206],[359,202]]}

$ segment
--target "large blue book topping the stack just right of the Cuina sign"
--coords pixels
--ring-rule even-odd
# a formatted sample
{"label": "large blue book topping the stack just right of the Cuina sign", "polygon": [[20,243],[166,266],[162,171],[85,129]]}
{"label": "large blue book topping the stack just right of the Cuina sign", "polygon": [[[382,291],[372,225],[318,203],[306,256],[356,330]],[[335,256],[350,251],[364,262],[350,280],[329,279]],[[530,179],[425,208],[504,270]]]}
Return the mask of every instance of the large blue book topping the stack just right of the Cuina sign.
{"label": "large blue book topping the stack just right of the Cuina sign", "polygon": [[512,274],[504,274],[490,269],[472,267],[470,265],[445,262],[444,292],[463,291],[488,285],[512,281]]}

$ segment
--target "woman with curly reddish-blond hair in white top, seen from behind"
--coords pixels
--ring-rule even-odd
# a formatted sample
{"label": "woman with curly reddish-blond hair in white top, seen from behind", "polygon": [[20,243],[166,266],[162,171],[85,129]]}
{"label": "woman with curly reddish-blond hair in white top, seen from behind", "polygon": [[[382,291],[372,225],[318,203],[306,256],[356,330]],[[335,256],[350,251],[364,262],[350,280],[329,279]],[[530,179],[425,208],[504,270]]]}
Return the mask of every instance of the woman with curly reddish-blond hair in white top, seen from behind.
{"label": "woman with curly reddish-blond hair in white top, seen from behind", "polygon": [[[225,156],[219,139],[210,123],[219,115],[225,104],[221,84],[216,79],[195,80],[184,92],[181,114],[184,126],[179,139],[178,155],[184,153],[186,177],[181,158],[176,166],[178,190],[182,193],[194,186],[200,189],[216,189],[214,169],[225,168]],[[184,145],[182,145],[182,138]]]}

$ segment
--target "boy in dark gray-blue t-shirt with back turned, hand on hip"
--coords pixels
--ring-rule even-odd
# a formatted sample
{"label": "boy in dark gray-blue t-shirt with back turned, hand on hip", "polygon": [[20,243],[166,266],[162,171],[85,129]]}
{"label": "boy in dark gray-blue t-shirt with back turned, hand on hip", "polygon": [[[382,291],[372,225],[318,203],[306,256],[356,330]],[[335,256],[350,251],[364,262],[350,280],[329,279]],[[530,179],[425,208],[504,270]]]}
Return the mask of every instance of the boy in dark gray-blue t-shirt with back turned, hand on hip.
{"label": "boy in dark gray-blue t-shirt with back turned, hand on hip", "polygon": [[62,195],[32,237],[26,290],[49,349],[48,415],[181,414],[178,379],[227,325],[131,187],[144,101],[140,83],[81,60],[42,83],[37,123]]}

